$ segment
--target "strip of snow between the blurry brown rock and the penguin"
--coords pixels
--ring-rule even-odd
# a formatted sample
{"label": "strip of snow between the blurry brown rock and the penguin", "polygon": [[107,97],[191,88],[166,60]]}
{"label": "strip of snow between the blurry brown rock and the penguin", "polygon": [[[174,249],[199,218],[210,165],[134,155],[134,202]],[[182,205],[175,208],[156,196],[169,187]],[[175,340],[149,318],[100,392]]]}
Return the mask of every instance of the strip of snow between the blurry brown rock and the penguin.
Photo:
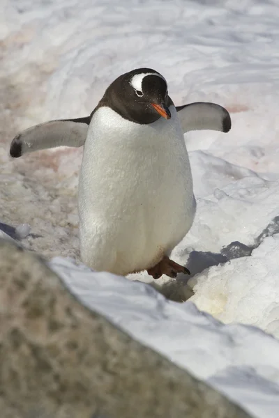
{"label": "strip of snow between the blurry brown rock and the penguin", "polygon": [[[273,238],[269,238],[273,239]],[[279,244],[279,236],[277,236]],[[279,341],[257,327],[223,325],[193,302],[172,302],[151,286],[73,259],[49,263],[79,300],[255,417],[278,417]]]}

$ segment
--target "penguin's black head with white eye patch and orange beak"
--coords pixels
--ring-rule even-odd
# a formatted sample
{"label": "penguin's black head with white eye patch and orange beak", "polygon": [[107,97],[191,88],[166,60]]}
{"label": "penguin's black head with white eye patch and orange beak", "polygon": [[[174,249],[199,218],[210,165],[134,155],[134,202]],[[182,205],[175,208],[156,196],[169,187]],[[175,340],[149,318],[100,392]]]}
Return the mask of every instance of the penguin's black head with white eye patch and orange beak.
{"label": "penguin's black head with white eye patch and orange beak", "polygon": [[138,68],[118,77],[107,88],[100,106],[109,105],[123,118],[147,124],[171,117],[172,104],[165,78],[151,68]]}

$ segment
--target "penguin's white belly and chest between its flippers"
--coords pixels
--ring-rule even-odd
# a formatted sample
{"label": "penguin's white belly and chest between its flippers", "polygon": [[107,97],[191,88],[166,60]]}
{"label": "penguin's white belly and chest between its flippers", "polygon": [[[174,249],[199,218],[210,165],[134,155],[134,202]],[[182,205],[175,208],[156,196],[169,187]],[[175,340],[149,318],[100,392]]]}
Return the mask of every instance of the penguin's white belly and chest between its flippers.
{"label": "penguin's white belly and chest between its flippers", "polygon": [[174,106],[149,125],[110,107],[93,115],[79,183],[80,251],[94,270],[126,275],[153,267],[195,216],[190,162]]}

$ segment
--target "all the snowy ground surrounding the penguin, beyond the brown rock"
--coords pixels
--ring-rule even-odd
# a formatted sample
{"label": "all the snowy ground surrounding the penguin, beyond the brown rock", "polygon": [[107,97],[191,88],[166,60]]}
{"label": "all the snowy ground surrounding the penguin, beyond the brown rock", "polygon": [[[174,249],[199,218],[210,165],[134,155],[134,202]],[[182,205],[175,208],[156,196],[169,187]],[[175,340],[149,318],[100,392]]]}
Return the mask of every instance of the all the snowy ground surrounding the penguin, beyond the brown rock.
{"label": "all the snowy ground surrounding the penguin, beyond the brown rock", "polygon": [[[52,268],[84,303],[255,417],[278,417],[278,1],[5,0],[0,11],[1,236],[59,256]],[[20,130],[89,115],[114,78],[144,66],[175,104],[213,101],[232,116],[228,134],[186,134],[197,215],[172,255],[189,286],[73,264],[82,148],[8,157]]]}

